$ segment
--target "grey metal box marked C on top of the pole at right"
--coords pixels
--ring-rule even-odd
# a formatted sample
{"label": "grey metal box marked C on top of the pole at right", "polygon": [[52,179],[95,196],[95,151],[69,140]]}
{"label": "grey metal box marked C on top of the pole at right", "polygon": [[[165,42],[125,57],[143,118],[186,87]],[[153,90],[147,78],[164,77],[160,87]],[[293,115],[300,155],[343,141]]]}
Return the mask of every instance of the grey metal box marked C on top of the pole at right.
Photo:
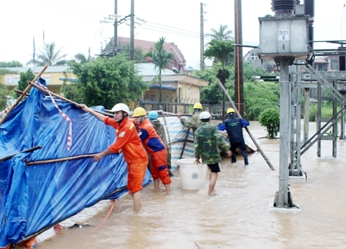
{"label": "grey metal box marked C on top of the pole at right", "polygon": [[260,59],[274,59],[289,56],[295,59],[309,59],[309,17],[275,16],[259,17]]}

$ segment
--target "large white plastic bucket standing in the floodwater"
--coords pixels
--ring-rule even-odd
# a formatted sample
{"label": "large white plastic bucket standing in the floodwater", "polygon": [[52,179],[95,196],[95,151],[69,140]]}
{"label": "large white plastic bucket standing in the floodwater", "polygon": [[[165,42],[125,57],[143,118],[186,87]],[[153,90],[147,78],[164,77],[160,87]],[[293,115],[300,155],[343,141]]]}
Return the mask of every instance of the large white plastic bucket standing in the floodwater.
{"label": "large white plastic bucket standing in the floodwater", "polygon": [[195,158],[178,160],[180,186],[183,190],[199,190],[206,184],[207,165],[194,163]]}

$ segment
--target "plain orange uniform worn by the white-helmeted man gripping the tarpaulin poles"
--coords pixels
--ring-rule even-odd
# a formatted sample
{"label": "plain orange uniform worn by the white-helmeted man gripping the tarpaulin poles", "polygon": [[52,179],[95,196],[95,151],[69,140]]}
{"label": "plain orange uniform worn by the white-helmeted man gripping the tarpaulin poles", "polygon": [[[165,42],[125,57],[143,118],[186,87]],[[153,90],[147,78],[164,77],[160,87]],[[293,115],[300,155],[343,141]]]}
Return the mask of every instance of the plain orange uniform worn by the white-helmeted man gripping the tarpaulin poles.
{"label": "plain orange uniform worn by the white-helmeted man gripping the tarpaulin poles", "polygon": [[134,123],[125,117],[120,124],[113,118],[104,117],[104,124],[116,129],[116,142],[108,149],[113,153],[119,153],[121,149],[127,163],[127,189],[134,194],[143,189],[143,181],[147,170],[148,156],[145,153],[142,142]]}

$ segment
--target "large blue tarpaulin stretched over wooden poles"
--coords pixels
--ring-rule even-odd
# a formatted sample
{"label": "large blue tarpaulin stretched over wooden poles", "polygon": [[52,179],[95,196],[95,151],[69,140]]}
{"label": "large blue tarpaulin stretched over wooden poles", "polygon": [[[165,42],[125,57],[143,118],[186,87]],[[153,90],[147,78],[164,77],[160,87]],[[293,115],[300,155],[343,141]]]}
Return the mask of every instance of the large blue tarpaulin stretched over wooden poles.
{"label": "large blue tarpaulin stretched over wooden poles", "polygon": [[[44,83],[44,82],[42,82]],[[92,157],[26,165],[26,162],[95,154],[116,140],[113,127],[74,104],[55,99],[72,121],[72,146],[67,149],[69,122],[42,91],[13,109],[0,125],[0,248],[18,243],[77,214],[102,199],[125,194],[127,165],[122,154],[99,162]],[[103,107],[93,107],[104,111]],[[143,185],[149,183],[149,171]]]}

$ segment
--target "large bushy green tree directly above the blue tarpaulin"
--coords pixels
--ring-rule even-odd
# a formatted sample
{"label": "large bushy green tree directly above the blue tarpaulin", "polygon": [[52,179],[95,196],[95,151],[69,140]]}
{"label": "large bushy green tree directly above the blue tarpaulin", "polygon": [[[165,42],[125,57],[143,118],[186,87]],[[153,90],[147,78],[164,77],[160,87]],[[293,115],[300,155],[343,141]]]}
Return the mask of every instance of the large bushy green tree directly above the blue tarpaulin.
{"label": "large bushy green tree directly above the blue tarpaulin", "polygon": [[62,92],[66,98],[88,106],[102,105],[111,109],[118,102],[136,101],[140,93],[149,89],[138,75],[134,62],[124,55],[98,57],[85,64],[72,62],[71,70],[78,81],[64,83]]}

